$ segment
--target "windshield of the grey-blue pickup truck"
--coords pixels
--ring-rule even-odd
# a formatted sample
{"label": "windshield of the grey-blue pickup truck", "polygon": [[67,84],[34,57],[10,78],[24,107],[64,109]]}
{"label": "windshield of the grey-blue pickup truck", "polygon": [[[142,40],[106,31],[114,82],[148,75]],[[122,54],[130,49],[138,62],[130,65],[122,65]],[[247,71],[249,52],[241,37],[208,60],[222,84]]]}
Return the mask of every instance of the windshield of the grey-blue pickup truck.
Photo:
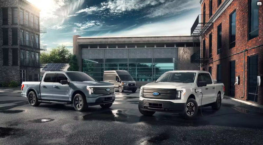
{"label": "windshield of the grey-blue pickup truck", "polygon": [[83,72],[67,72],[67,75],[71,81],[84,82],[84,81],[96,81],[91,76]]}

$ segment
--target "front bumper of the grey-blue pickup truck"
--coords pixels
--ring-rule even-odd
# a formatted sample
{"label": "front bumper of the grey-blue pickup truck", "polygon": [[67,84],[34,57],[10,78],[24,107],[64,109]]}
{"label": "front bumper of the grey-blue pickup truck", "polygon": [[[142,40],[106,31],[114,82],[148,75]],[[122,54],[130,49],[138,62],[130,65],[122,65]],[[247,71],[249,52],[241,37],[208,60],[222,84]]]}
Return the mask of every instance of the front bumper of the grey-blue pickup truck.
{"label": "front bumper of the grey-blue pickup truck", "polygon": [[99,95],[97,97],[86,97],[86,101],[89,106],[113,103],[114,100],[115,94]]}

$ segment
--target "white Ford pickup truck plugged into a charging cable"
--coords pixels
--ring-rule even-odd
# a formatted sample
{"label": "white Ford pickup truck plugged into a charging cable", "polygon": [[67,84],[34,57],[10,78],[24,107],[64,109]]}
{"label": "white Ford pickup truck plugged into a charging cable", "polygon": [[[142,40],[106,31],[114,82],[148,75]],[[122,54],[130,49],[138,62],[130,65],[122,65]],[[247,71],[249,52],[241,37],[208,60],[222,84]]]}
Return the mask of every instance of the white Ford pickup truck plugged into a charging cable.
{"label": "white Ford pickup truck plugged into a charging cable", "polygon": [[219,110],[224,91],[224,84],[212,80],[209,72],[169,71],[141,87],[139,111],[146,116],[170,112],[194,118],[200,106]]}

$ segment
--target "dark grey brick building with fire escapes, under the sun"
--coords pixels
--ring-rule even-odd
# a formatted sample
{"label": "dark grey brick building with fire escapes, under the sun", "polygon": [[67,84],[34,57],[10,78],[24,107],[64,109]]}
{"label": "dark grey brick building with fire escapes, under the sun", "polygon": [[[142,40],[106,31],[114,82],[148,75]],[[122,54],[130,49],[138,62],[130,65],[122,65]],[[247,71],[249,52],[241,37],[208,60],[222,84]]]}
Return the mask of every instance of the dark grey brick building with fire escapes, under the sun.
{"label": "dark grey brick building with fire escapes, under the sun", "polygon": [[0,84],[40,79],[39,9],[25,0],[0,0]]}

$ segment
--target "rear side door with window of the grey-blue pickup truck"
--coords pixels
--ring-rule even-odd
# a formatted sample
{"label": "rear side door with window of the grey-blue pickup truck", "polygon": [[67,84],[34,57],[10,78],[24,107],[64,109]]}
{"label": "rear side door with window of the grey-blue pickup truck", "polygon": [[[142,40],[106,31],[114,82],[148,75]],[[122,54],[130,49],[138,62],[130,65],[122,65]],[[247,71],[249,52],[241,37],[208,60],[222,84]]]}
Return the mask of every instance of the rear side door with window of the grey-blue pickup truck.
{"label": "rear side door with window of the grey-blue pickup truck", "polygon": [[41,99],[53,99],[53,83],[55,82],[55,73],[46,73],[40,83]]}

